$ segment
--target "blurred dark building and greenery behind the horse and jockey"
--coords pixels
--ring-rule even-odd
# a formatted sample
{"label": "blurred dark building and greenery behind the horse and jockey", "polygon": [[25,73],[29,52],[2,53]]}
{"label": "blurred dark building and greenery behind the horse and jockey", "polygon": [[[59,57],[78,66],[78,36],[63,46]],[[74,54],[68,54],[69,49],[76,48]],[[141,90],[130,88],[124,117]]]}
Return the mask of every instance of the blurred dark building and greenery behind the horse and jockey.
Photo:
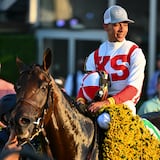
{"label": "blurred dark building and greenery behind the horse and jockey", "polygon": [[66,78],[78,59],[87,57],[107,37],[104,10],[124,7],[135,24],[128,37],[147,59],[143,97],[160,53],[160,1],[158,0],[0,0],[0,76],[15,83],[18,56],[25,63],[42,63],[43,51],[53,51],[51,73]]}

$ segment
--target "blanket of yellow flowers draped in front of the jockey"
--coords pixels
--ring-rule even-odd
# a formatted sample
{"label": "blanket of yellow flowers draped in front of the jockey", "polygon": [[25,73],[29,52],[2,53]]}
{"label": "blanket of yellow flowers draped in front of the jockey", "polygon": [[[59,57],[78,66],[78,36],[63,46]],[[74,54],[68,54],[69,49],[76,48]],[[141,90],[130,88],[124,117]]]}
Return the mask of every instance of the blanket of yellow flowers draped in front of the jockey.
{"label": "blanket of yellow flowers draped in front of the jockey", "polygon": [[125,105],[105,106],[111,122],[105,132],[103,160],[160,160],[160,141]]}

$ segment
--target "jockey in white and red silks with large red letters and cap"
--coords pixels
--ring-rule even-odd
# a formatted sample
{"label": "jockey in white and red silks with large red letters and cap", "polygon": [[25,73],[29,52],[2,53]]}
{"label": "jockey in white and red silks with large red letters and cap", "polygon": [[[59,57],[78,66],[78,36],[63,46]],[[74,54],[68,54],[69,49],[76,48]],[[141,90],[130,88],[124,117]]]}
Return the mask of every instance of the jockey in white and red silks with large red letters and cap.
{"label": "jockey in white and red silks with large red letters and cap", "polygon": [[108,105],[127,105],[136,114],[143,86],[146,59],[142,49],[126,38],[133,20],[127,11],[118,5],[107,8],[103,16],[103,28],[107,35],[96,50],[88,55],[86,71],[105,70],[110,78],[109,98],[91,103],[92,113]]}

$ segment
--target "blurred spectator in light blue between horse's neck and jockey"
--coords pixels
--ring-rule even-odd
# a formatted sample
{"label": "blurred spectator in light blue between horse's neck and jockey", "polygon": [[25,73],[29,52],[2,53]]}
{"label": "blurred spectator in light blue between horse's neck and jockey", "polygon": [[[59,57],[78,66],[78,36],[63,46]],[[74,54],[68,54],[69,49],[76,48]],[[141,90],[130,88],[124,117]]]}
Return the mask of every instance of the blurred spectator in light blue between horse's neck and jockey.
{"label": "blurred spectator in light blue between horse's neck and jockey", "polygon": [[76,97],[80,89],[82,78],[84,76],[84,60],[77,62],[76,72],[69,74],[66,78],[64,89],[69,96]]}

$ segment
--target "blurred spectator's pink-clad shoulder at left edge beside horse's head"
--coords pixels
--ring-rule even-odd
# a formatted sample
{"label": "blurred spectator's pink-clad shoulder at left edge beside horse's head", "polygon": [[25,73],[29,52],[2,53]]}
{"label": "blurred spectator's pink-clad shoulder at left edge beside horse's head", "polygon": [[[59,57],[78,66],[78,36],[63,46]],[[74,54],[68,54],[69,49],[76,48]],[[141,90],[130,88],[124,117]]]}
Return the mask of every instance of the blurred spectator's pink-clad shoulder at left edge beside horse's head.
{"label": "blurred spectator's pink-clad shoulder at left edge beside horse's head", "polygon": [[[1,64],[0,64],[1,71]],[[7,94],[15,94],[14,85],[0,77],[0,99]]]}

